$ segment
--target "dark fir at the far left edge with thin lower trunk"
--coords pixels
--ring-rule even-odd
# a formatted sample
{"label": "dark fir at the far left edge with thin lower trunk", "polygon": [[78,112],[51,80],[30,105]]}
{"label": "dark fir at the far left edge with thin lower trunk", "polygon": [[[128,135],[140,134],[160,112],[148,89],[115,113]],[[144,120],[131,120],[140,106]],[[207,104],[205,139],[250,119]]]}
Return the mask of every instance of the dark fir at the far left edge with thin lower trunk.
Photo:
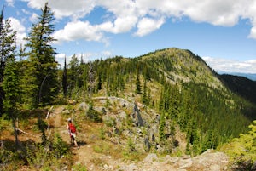
{"label": "dark fir at the far left edge with thin lower trunk", "polygon": [[3,23],[3,9],[0,14],[0,116],[5,112],[12,120],[15,134],[15,145],[18,149],[19,140],[15,127],[16,111],[19,100],[19,77],[15,63],[16,31],[10,26],[10,21]]}

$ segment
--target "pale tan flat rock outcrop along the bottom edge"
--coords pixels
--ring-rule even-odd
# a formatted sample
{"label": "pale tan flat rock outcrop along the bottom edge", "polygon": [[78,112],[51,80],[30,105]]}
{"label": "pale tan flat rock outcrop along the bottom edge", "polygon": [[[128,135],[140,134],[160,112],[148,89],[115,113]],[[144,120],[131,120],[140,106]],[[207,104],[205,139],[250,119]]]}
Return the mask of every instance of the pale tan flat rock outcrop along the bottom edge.
{"label": "pale tan flat rock outcrop along the bottom edge", "polygon": [[141,162],[122,163],[118,170],[125,171],[223,171],[228,170],[229,157],[222,152],[208,150],[197,157],[158,157],[148,154]]}

